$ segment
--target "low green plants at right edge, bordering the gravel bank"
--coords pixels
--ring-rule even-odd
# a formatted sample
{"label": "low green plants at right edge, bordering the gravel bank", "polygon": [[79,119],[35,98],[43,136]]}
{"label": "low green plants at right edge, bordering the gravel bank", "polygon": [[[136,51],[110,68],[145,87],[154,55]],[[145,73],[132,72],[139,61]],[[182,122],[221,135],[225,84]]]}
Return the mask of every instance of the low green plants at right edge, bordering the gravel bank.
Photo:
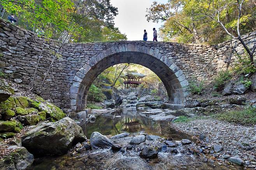
{"label": "low green plants at right edge, bordering the gravel bank", "polygon": [[243,125],[256,124],[256,108],[249,107],[240,111],[229,111],[220,114],[213,115],[218,120],[240,123]]}

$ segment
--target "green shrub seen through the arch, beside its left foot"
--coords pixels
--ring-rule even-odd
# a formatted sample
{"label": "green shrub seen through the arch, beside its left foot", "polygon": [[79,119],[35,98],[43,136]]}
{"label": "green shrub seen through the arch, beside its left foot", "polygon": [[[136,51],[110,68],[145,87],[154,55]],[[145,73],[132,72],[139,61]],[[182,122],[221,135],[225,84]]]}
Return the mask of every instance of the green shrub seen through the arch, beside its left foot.
{"label": "green shrub seen through the arch, beside its left foot", "polygon": [[89,88],[88,100],[102,102],[105,99],[105,95],[102,93],[102,90],[95,85],[91,85]]}

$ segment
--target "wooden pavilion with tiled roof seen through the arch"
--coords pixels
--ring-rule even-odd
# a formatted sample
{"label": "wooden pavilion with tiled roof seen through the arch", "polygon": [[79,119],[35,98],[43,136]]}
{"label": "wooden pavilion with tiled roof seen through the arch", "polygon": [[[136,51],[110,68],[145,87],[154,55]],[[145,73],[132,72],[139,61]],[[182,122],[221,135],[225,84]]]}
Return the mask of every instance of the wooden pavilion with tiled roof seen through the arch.
{"label": "wooden pavilion with tiled roof seen through the arch", "polygon": [[140,74],[140,73],[126,73],[125,75],[121,76],[124,79],[124,88],[136,88],[142,83],[142,78],[146,77],[147,75]]}

